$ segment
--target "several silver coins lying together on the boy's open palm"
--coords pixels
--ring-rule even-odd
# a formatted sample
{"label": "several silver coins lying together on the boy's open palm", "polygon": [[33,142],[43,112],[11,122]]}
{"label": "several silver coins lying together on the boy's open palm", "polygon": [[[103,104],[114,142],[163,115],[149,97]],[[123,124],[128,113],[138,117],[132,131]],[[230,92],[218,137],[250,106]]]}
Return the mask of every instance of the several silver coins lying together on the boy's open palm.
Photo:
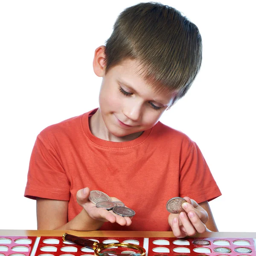
{"label": "several silver coins lying together on the boy's open palm", "polygon": [[135,215],[134,210],[125,207],[125,204],[121,201],[113,202],[111,198],[99,191],[99,190],[92,190],[90,191],[89,200],[96,205],[98,208],[104,208],[106,210],[113,210],[114,213],[117,215],[121,215],[123,217],[132,217]]}

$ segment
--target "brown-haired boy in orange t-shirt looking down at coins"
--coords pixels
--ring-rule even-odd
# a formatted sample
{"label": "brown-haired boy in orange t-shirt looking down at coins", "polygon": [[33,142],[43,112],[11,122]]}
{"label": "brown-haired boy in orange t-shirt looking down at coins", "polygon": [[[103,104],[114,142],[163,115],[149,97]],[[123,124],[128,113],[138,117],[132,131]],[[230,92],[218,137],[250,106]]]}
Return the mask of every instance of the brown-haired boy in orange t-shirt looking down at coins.
{"label": "brown-haired boy in orange t-shirt looking down at coins", "polygon": [[[191,86],[201,53],[198,28],[176,9],[140,3],[119,15],[93,59],[99,108],[49,126],[35,142],[25,196],[37,200],[38,229],[218,231],[208,201],[221,192],[201,151],[158,122]],[[136,215],[96,208],[90,189]],[[185,212],[169,214],[166,202],[177,196]]]}

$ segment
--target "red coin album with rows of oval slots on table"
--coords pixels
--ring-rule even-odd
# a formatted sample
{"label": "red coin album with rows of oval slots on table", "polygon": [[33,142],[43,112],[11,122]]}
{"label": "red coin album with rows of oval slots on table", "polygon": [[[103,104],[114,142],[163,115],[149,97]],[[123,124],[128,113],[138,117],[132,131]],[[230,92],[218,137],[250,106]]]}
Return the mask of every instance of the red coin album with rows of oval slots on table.
{"label": "red coin album with rows of oval slots on table", "polygon": [[[99,243],[125,242],[144,247],[147,256],[256,256],[253,238],[84,237]],[[131,256],[131,251],[128,252]],[[0,256],[91,256],[93,250],[60,236],[0,236]],[[125,253],[124,253],[125,256]]]}

